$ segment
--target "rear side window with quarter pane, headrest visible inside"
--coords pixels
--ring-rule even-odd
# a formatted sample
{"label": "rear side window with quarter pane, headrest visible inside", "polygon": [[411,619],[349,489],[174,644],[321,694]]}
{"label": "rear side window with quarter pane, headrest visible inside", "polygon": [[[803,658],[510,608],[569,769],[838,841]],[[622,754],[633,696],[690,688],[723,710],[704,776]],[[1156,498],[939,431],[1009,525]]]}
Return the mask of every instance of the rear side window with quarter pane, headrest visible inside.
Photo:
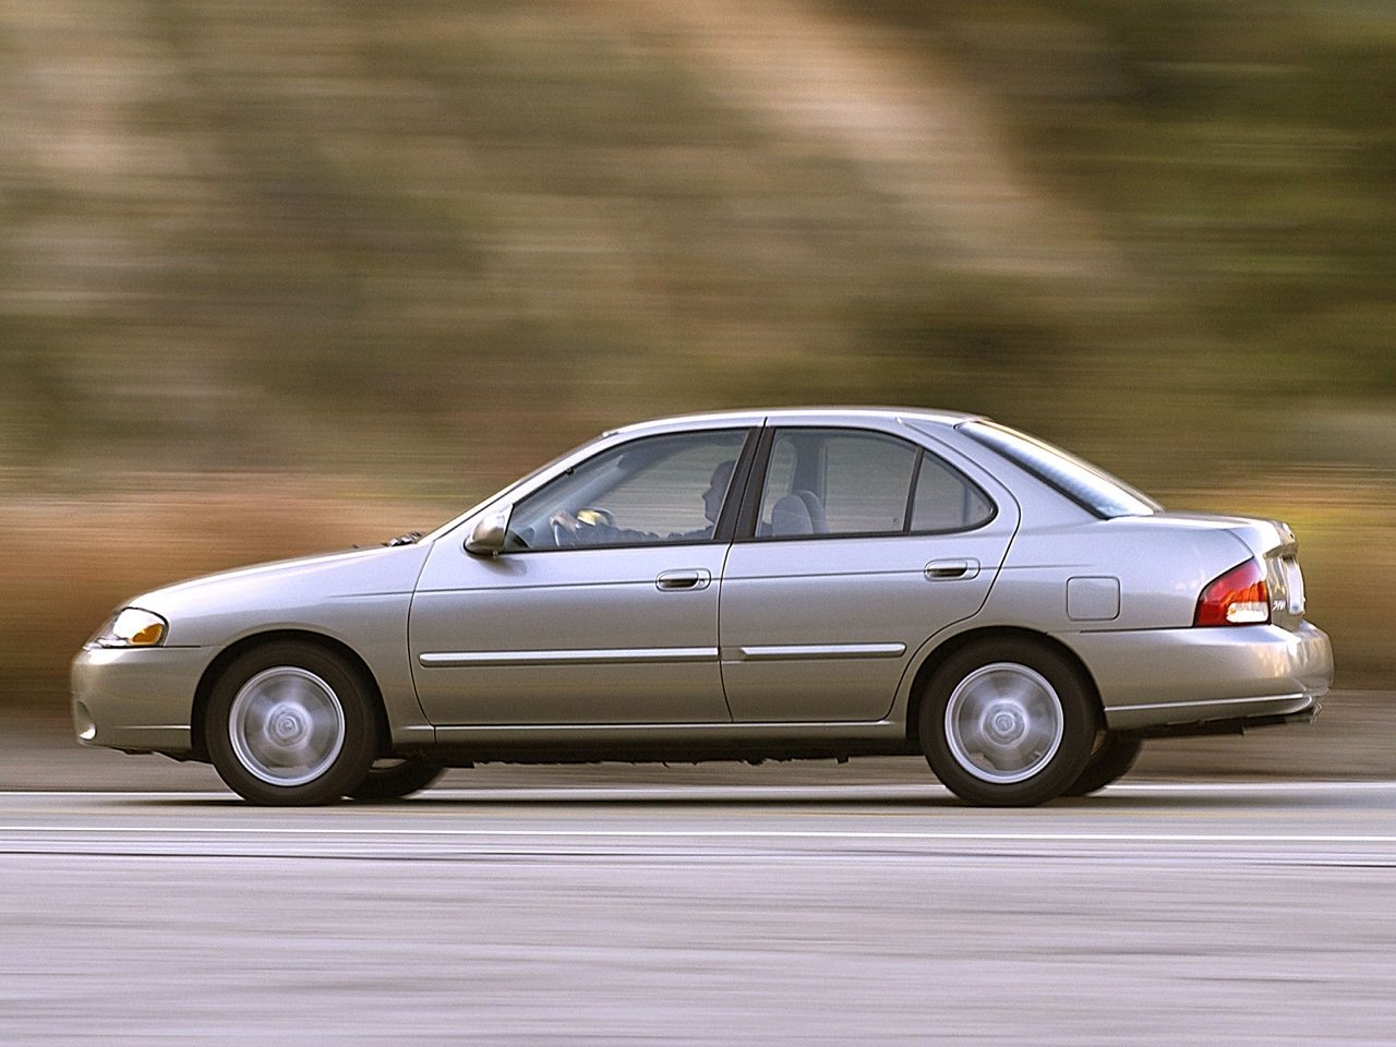
{"label": "rear side window with quarter pane, headrest visible inside", "polygon": [[994,512],[963,475],[905,440],[787,429],[771,444],[757,537],[967,530]]}

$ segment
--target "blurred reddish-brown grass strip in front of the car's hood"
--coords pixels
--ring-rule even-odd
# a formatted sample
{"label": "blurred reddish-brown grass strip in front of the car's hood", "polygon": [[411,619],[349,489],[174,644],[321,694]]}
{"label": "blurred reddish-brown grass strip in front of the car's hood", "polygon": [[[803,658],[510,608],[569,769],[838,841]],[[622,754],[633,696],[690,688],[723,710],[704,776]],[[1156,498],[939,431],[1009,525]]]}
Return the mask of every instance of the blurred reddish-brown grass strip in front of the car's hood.
{"label": "blurred reddish-brown grass strip in front of the car's hood", "polygon": [[[0,505],[0,706],[64,708],[67,663],[138,592],[262,560],[376,544],[450,518],[286,475],[127,473],[124,491]],[[468,505],[461,505],[461,510]]]}

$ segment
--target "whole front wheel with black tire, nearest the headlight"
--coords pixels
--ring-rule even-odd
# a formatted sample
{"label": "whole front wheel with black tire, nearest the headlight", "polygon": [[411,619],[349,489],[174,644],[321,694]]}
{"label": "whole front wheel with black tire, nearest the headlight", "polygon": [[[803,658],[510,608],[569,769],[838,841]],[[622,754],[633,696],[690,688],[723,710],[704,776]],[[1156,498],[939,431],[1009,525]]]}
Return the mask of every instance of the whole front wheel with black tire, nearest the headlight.
{"label": "whole front wheel with black tire, nearest the headlight", "polygon": [[244,800],[304,807],[363,782],[377,750],[367,687],[327,651],[268,644],[223,670],[204,718],[208,755]]}

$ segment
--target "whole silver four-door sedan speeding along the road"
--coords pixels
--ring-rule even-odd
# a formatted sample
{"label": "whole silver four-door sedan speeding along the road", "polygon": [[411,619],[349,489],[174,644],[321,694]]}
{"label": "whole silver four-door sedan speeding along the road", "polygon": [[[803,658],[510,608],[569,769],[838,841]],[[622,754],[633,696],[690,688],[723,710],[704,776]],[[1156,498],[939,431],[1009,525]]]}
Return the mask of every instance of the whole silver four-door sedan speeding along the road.
{"label": "whole silver four-door sedan speeding along the road", "polygon": [[1146,737],[1312,719],[1333,660],[1295,557],[1283,524],[1166,512],[980,416],[663,419],[430,535],[133,599],[74,662],[74,720],[274,804],[870,754],[1036,804]]}

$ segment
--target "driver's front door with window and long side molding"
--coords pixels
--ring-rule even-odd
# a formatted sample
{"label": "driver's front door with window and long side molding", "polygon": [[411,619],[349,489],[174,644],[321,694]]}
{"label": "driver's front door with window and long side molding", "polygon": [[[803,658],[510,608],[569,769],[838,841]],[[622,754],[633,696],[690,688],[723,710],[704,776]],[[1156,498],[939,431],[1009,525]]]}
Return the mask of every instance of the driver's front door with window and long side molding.
{"label": "driver's front door with window and long side molding", "polygon": [[[434,725],[726,723],[719,521],[745,430],[611,447],[512,510],[505,551],[438,540],[412,602]],[[730,507],[729,507],[730,511]]]}

